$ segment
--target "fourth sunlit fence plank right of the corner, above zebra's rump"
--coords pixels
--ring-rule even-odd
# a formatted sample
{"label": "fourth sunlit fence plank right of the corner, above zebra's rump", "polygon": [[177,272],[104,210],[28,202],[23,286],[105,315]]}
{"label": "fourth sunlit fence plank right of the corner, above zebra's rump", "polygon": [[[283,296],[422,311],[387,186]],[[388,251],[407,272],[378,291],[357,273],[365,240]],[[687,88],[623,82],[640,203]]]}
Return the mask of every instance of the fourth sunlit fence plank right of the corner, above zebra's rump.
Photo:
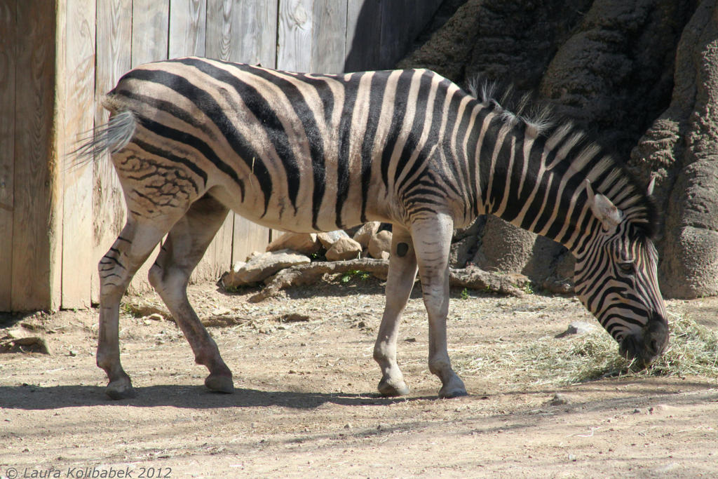
{"label": "fourth sunlit fence plank right of the corner, above zebra's rump", "polygon": [[207,0],[172,0],[169,6],[169,57],[205,56]]}

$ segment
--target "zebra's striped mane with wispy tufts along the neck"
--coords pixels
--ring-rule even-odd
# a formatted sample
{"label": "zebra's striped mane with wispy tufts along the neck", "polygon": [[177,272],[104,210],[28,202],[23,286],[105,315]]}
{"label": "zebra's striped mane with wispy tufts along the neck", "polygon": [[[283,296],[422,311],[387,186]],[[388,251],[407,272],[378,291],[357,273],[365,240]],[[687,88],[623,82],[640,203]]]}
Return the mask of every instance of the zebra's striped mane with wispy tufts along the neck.
{"label": "zebra's striped mane with wispy tufts along the neck", "polygon": [[[497,83],[482,80],[480,77],[472,78],[467,87],[471,96],[482,103],[482,106],[492,108],[506,124],[523,125],[527,135],[541,136],[547,145],[551,143],[554,135],[566,138],[567,141],[561,149],[565,149],[565,144],[569,143],[570,149],[579,153],[568,158],[557,155],[547,168],[557,173],[569,169],[580,169],[587,173],[599,171],[602,181],[598,185],[602,187],[596,192],[608,197],[622,210],[639,234],[647,238],[658,236],[660,227],[655,199],[648,195],[647,188],[638,182],[625,162],[615,154],[606,152],[572,121],[556,118],[552,108],[545,103],[541,105],[533,101],[531,93],[526,93],[516,100],[514,89],[509,86],[503,89],[500,99],[497,99]],[[510,108],[503,105],[510,105]],[[596,187],[593,183],[592,186]]]}

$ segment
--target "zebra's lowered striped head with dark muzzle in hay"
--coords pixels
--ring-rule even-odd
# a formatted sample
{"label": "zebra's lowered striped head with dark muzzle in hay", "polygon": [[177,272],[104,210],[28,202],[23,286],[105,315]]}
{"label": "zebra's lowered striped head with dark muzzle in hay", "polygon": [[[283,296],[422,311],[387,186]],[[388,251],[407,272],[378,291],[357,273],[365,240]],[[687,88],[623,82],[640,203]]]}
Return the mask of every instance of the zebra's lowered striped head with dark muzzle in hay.
{"label": "zebra's lowered striped head with dark muzzle in hay", "polygon": [[[577,256],[576,293],[620,345],[648,366],[668,344],[666,305],[658,288],[658,254],[650,235],[586,182],[595,228]],[[649,195],[651,192],[649,187]]]}

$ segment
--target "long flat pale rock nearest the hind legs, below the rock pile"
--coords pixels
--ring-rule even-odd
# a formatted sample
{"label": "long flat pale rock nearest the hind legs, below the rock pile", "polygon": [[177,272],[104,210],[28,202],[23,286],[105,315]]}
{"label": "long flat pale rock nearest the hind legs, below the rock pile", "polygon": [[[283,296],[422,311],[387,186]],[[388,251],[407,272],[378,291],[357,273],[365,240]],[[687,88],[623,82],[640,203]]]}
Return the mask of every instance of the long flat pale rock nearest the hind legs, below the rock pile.
{"label": "long flat pale rock nearest the hind legs, below the rock pile", "polygon": [[281,269],[309,262],[307,256],[287,250],[253,254],[246,263],[236,264],[232,271],[225,273],[221,282],[225,289],[248,286],[269,278]]}

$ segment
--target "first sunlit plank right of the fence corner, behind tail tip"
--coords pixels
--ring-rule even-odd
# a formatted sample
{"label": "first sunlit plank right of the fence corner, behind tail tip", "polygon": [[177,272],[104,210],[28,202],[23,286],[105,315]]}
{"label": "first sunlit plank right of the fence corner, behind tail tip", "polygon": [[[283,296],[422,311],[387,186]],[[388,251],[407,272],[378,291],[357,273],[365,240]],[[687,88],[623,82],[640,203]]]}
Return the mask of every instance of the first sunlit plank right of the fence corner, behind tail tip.
{"label": "first sunlit plank right of the fence corner, behind tail tip", "polygon": [[[67,0],[64,40],[65,149],[74,148],[95,119],[95,1]],[[62,42],[63,37],[59,41]],[[65,170],[62,215],[62,307],[89,307],[96,261],[93,255],[93,165]]]}

